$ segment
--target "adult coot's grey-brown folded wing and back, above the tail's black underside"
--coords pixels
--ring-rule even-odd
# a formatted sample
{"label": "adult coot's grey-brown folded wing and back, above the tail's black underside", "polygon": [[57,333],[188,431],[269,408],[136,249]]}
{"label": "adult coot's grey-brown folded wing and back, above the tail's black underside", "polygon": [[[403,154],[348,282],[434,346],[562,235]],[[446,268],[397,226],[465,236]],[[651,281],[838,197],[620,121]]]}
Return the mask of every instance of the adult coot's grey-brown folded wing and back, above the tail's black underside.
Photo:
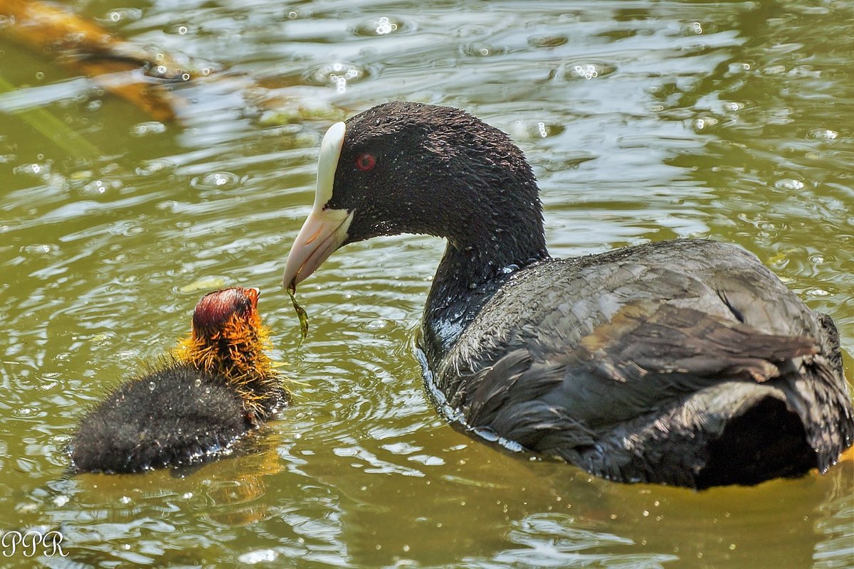
{"label": "adult coot's grey-brown folded wing and back, above the tail's black underside", "polygon": [[[437,386],[469,425],[531,449],[582,448],[638,421],[652,428],[689,400],[702,415],[696,395],[728,382],[773,384],[806,428],[834,420],[850,438],[838,340],[827,330],[749,253],[670,241],[523,271],[466,329]],[[806,375],[816,386],[795,386]],[[832,410],[810,416],[813,403]],[[705,420],[722,429],[729,407]]]}

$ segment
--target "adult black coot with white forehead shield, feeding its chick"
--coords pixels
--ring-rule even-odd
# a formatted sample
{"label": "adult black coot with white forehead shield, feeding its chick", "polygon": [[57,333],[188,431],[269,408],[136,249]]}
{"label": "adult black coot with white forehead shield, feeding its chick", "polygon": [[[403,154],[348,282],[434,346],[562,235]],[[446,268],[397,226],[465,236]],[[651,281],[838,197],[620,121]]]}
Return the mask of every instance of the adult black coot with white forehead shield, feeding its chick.
{"label": "adult black coot with white forehead shield, feeding its chick", "polygon": [[750,485],[834,464],[854,421],[829,316],[715,241],[550,258],[537,194],[524,154],[470,114],[373,107],[326,133],[284,285],[354,241],[444,237],[421,346],[466,429],[623,482]]}

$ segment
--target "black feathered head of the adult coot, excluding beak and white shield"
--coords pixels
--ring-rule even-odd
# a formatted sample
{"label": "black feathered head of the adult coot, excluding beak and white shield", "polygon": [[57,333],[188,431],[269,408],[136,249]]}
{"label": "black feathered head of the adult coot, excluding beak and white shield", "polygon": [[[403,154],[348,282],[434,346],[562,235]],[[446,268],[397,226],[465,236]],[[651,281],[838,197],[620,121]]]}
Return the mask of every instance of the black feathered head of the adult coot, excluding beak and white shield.
{"label": "black feathered head of the adult coot, excluding beak and white shield", "polygon": [[345,243],[400,233],[462,240],[502,202],[538,201],[522,151],[459,109],[389,102],[346,125],[327,203],[354,212]]}

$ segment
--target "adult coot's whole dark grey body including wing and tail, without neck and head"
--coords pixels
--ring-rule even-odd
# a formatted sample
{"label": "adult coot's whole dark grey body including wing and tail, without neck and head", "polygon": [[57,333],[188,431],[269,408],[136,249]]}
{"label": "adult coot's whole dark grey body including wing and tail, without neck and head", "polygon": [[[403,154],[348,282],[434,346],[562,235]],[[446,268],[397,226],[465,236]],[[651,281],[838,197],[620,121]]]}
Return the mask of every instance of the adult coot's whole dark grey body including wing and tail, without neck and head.
{"label": "adult coot's whole dark grey body including wing and tail, without neck and head", "polygon": [[715,241],[531,265],[432,363],[468,426],[614,479],[703,485],[724,438],[776,448],[739,417],[791,423],[797,473],[828,467],[854,431],[833,322]]}

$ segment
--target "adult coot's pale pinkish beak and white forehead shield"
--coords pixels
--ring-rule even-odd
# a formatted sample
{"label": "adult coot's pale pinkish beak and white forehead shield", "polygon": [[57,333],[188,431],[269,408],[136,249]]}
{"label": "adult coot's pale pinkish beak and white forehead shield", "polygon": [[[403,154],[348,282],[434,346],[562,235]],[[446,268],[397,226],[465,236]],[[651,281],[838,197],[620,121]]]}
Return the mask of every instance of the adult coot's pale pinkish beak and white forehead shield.
{"label": "adult coot's pale pinkish beak and white forehead shield", "polygon": [[284,264],[285,288],[296,287],[304,281],[347,240],[347,229],[353,220],[353,212],[327,207],[332,199],[335,171],[341,157],[345,130],[344,123],[336,123],[330,126],[323,142],[320,142],[314,205],[296,235],[288,253],[288,260]]}

